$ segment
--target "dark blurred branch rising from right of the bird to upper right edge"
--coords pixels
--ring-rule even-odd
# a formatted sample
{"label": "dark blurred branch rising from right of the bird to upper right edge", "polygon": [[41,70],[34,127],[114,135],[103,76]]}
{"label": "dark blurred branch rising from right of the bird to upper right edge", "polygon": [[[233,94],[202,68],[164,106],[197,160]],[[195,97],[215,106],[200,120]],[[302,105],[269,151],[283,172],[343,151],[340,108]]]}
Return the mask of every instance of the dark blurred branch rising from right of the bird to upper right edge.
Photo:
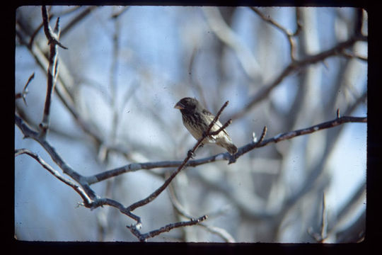
{"label": "dark blurred branch rising from right of the bird to upper right edge", "polygon": [[241,118],[245,113],[250,111],[251,108],[256,106],[257,103],[260,103],[265,98],[267,98],[270,92],[274,88],[276,88],[279,84],[282,83],[284,78],[288,77],[290,74],[292,74],[296,70],[306,67],[310,64],[316,64],[317,62],[323,61],[328,57],[332,57],[336,55],[342,56],[343,50],[345,50],[347,47],[354,45],[354,43],[359,40],[367,41],[367,36],[354,35],[352,38],[349,38],[349,40],[345,42],[340,42],[329,50],[325,50],[316,55],[310,55],[303,60],[296,60],[294,62],[291,62],[287,67],[285,67],[284,70],[282,70],[282,72],[276,77],[276,79],[274,79],[274,81],[272,81],[269,85],[263,86],[262,89],[260,89],[260,91],[257,92],[257,94],[252,96],[250,98],[249,103],[245,103],[245,108],[233,114],[232,119],[235,120],[237,118]]}

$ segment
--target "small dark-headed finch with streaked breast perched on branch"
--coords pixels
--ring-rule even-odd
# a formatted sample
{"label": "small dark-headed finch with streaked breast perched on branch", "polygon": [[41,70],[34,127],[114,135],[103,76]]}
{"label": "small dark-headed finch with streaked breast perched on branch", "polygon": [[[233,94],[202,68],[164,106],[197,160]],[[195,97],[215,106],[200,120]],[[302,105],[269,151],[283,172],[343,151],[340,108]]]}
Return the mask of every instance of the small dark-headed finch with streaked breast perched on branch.
{"label": "small dark-headed finch with streaked breast perched on branch", "polygon": [[[182,98],[175,104],[174,108],[182,113],[183,124],[196,140],[203,136],[203,132],[207,131],[209,124],[214,120],[215,116],[207,111],[195,98]],[[219,120],[212,126],[210,132],[215,132],[221,128]],[[221,130],[219,134],[206,137],[202,144],[215,143],[224,147],[230,154],[238,152],[238,148],[233,145],[231,137],[226,130]]]}

